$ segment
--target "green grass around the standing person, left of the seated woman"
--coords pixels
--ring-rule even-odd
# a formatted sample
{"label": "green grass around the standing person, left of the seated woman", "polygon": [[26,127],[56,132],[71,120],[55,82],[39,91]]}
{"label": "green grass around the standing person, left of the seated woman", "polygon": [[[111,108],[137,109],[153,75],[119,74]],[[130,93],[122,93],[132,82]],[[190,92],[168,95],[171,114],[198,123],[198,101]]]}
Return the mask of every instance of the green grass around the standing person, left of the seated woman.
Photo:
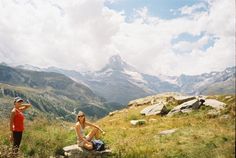
{"label": "green grass around the standing person, left of the seated woman", "polygon": [[[10,157],[11,143],[9,142],[9,121],[1,123],[0,128],[0,157]],[[20,157],[50,157],[62,154],[64,146],[75,144],[76,136],[71,124],[38,118],[26,120],[26,127],[20,147]],[[6,152],[6,150],[8,150]]]}

